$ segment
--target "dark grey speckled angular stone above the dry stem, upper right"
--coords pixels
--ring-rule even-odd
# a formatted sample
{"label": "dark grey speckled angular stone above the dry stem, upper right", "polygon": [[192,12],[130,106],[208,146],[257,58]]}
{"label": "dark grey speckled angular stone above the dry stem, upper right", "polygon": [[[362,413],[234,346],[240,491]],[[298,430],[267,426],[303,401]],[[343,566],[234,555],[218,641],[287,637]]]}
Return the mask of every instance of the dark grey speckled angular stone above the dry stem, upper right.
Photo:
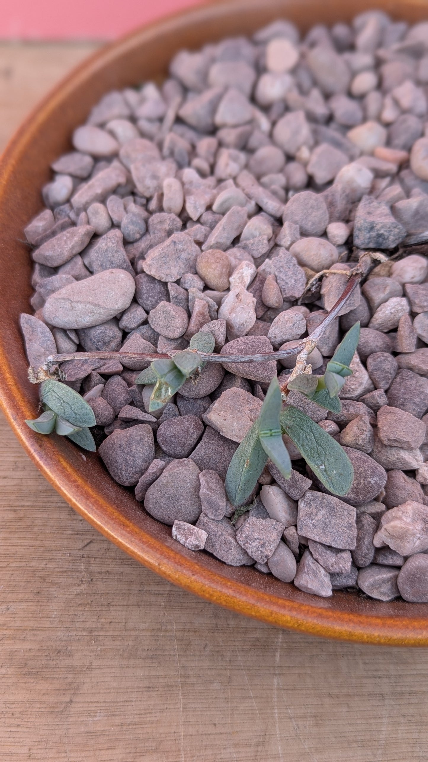
{"label": "dark grey speckled angular stone above the dry stem, upper right", "polygon": [[406,236],[406,230],[391,214],[388,206],[364,196],[356,210],[353,241],[358,248],[391,249]]}

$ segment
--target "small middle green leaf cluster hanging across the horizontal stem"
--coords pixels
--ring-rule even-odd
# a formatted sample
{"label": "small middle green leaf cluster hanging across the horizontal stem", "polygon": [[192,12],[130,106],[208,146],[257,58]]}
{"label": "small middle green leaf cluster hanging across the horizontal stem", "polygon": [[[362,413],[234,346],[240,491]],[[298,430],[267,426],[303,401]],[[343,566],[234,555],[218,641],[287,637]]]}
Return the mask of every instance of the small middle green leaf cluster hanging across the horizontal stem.
{"label": "small middle green leaf cluster hanging across the horizontal stem", "polygon": [[[200,331],[190,339],[190,350],[211,354],[216,344],[209,331]],[[185,381],[206,365],[194,351],[184,350],[174,354],[174,360],[154,360],[149,368],[142,370],[136,384],[154,384],[150,396],[149,412],[152,413],[169,402]]]}

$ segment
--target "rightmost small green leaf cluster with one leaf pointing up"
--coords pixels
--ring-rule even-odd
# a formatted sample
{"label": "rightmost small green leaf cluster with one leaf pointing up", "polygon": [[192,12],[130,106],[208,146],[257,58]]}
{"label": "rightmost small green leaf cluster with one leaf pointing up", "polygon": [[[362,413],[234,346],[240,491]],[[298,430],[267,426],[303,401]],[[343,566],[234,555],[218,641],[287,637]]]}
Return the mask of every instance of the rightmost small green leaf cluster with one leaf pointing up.
{"label": "rightmost small green leaf cluster with one leaf pointing up", "polygon": [[288,388],[302,392],[308,399],[333,413],[340,413],[339,393],[347,379],[352,375],[350,363],[359,342],[359,322],[343,337],[333,357],[327,363],[324,376],[308,376],[301,373],[289,382]]}

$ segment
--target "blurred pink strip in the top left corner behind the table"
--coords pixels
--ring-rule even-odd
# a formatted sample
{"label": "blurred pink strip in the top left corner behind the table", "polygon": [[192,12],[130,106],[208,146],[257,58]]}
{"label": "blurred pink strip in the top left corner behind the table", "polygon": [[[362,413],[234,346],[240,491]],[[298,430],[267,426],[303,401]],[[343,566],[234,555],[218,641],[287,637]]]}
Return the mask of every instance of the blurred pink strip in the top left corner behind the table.
{"label": "blurred pink strip in the top left corner behind the table", "polygon": [[3,0],[2,40],[106,40],[203,0]]}

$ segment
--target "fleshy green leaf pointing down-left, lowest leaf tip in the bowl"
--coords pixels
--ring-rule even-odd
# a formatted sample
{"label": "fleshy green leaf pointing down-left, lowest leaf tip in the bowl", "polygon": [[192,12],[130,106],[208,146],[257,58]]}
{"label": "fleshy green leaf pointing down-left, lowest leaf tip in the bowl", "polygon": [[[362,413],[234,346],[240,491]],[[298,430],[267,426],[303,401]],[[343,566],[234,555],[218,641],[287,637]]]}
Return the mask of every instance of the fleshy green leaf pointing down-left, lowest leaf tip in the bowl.
{"label": "fleshy green leaf pointing down-left, lowest leaf tip in the bowl", "polygon": [[257,420],[229,463],[225,488],[232,505],[241,505],[248,500],[266,464],[267,454],[260,444]]}

